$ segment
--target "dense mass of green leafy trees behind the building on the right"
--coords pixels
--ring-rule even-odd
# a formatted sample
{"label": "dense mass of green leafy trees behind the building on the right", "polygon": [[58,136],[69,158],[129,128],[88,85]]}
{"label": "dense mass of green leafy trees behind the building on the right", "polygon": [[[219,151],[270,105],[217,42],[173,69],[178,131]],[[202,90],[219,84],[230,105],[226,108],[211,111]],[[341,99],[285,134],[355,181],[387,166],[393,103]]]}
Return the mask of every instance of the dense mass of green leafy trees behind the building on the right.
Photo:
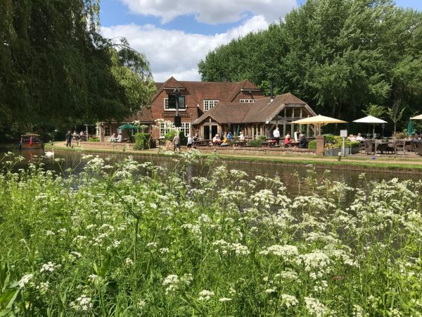
{"label": "dense mass of green leafy trees behind the building on the right", "polygon": [[[391,0],[307,0],[268,30],[210,51],[203,80],[245,78],[353,120],[369,104],[422,104],[422,13]],[[404,117],[405,118],[405,117]]]}

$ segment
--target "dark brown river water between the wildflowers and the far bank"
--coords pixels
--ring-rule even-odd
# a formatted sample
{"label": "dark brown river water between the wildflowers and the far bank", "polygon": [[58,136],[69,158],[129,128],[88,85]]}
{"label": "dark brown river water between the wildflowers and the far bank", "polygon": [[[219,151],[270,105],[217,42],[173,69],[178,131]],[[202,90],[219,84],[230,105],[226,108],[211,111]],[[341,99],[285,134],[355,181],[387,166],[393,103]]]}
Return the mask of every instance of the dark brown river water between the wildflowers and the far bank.
{"label": "dark brown river water between the wildflowers and the far bank", "polygon": [[[74,170],[73,173],[79,173],[80,170],[84,167],[84,161],[81,160],[81,156],[77,152],[60,152],[56,151],[54,157],[43,157],[44,150],[23,150],[19,151],[17,147],[0,147],[0,157],[6,151],[12,151],[17,155],[21,155],[25,158],[25,161],[18,163],[15,168],[26,168],[29,162],[34,162],[41,160],[44,163],[44,168],[46,170],[55,170],[56,172],[60,173],[62,170],[67,170],[68,168],[72,168]],[[106,158],[110,156],[110,154],[99,154],[101,157]],[[117,156],[118,159],[124,158],[124,155]],[[64,159],[64,163],[60,167],[55,159]],[[136,161],[151,161],[151,158],[148,156],[135,156]],[[174,158],[166,157],[166,156],[155,156],[152,160],[162,166],[164,168],[168,168],[172,170],[175,166]],[[244,161],[222,161],[222,164],[226,165],[229,169],[236,169],[236,170],[243,170],[248,173],[247,179],[252,180],[255,178],[256,175],[268,175],[271,178],[279,177],[283,181],[284,185],[287,188],[287,192],[289,194],[295,195],[298,193],[298,178],[296,178],[293,173],[298,173],[300,177],[305,178],[309,170],[309,166],[305,166],[302,164],[298,164],[298,166],[280,166],[271,163],[265,162],[257,162],[257,163],[249,163]],[[203,173],[203,164],[192,164],[188,166],[188,178],[191,178],[196,175],[200,175]],[[359,178],[359,175],[362,173],[362,170],[357,168],[356,170],[338,170],[333,169],[331,173],[328,173],[324,176],[324,169],[316,169],[316,176],[315,178],[321,180],[323,176],[328,178],[329,180],[335,180],[338,182],[344,182],[345,184],[354,187],[354,188],[366,188],[366,182],[368,180],[391,180],[392,178],[397,178],[398,180],[418,180],[419,176],[415,175],[402,175],[397,173],[366,173],[366,180]],[[306,192],[307,185],[302,183],[300,185],[301,192]]]}

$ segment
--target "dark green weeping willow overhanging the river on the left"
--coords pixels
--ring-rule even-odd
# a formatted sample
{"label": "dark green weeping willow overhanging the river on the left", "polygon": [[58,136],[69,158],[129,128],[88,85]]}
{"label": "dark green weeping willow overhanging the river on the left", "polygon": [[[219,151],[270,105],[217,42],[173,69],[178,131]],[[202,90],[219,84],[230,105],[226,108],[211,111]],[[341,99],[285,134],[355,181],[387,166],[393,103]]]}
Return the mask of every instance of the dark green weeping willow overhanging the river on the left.
{"label": "dark green weeping willow overhanging the river on the left", "polygon": [[127,117],[154,92],[146,57],[99,30],[99,0],[2,0],[0,129]]}

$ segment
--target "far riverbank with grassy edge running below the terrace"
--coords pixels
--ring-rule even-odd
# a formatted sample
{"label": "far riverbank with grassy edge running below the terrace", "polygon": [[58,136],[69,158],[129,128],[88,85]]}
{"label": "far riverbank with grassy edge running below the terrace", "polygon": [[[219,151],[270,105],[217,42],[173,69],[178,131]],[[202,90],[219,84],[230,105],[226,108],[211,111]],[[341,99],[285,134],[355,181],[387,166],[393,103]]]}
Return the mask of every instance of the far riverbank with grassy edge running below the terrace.
{"label": "far riverbank with grassy edge running below the terrace", "polygon": [[[130,154],[135,157],[148,157],[148,156],[168,156],[167,152],[163,149],[148,149],[148,150],[134,150],[129,147],[89,147],[89,144],[83,144],[82,147],[75,146],[73,148],[65,147],[64,142],[56,142],[55,144],[46,144],[46,149],[54,149],[55,151],[77,151],[92,154]],[[186,149],[182,149],[186,150]],[[264,164],[270,163],[279,166],[314,166],[315,168],[330,168],[330,169],[343,169],[343,170],[356,170],[362,169],[362,172],[382,172],[382,173],[405,173],[422,175],[422,158],[419,157],[397,157],[397,156],[348,156],[347,158],[338,161],[336,157],[328,156],[315,156],[311,154],[298,154],[283,152],[282,154],[275,151],[254,151],[245,150],[241,153],[237,151],[215,151],[214,149],[199,148],[198,151],[204,157],[214,155],[217,152],[219,158],[226,161],[243,161],[245,163]]]}

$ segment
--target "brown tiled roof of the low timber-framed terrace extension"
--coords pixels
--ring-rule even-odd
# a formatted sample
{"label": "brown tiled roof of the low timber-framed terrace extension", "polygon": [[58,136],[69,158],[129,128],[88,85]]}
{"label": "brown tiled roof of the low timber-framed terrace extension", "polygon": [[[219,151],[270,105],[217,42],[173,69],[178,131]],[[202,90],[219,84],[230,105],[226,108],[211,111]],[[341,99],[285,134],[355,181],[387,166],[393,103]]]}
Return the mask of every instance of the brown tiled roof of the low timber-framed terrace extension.
{"label": "brown tiled roof of the low timber-framed terrace extension", "polygon": [[305,101],[300,100],[289,92],[276,96],[273,101],[269,97],[266,97],[257,99],[253,104],[219,102],[219,104],[206,111],[200,118],[193,121],[193,124],[198,125],[209,116],[220,124],[263,123],[271,121],[289,104],[303,105],[312,116],[316,116],[316,113],[312,111]]}

